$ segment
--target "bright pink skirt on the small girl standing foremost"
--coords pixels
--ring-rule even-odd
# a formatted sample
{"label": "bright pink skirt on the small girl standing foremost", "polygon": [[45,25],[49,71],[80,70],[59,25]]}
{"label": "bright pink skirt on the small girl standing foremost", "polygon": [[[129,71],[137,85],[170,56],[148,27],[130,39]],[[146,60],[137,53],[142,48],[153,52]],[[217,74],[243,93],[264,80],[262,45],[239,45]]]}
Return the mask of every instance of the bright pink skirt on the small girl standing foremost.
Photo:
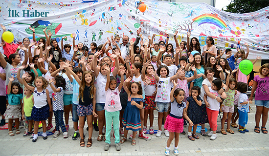
{"label": "bright pink skirt on the small girl standing foremost", "polygon": [[164,123],[164,128],[169,132],[181,133],[184,129],[183,125],[183,118],[175,118],[168,115]]}

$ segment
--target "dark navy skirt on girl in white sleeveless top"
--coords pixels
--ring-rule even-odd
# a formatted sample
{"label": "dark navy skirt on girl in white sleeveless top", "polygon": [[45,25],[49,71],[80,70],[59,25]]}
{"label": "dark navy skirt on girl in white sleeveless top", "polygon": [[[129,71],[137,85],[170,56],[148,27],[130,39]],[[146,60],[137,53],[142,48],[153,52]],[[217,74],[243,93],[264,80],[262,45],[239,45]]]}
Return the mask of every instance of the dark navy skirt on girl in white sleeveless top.
{"label": "dark navy skirt on girl in white sleeveless top", "polygon": [[32,109],[31,118],[34,121],[43,121],[49,117],[49,106],[48,104],[41,108],[36,108],[35,106]]}

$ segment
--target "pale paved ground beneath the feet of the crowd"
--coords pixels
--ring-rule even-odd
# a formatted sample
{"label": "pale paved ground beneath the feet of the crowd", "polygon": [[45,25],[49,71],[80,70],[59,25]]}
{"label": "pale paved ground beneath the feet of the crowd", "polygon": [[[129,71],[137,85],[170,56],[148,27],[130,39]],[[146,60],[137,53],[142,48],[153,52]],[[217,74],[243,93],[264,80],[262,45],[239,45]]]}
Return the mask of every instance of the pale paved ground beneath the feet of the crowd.
{"label": "pale paved ground beneath the feet of the crowd", "polygon": [[[237,128],[231,127],[235,134],[217,134],[216,140],[210,140],[210,137],[202,137],[191,141],[186,135],[179,135],[179,155],[180,156],[269,156],[269,134],[257,134],[254,132],[255,112],[256,107],[250,104],[251,109],[248,114],[248,124],[246,128],[249,130],[246,134],[241,134]],[[7,121],[7,120],[6,120]],[[53,119],[53,125],[55,120]],[[148,121],[149,125],[149,121]],[[261,124],[260,124],[261,125]],[[164,134],[161,137],[149,135],[152,139],[149,141],[139,139],[136,136],[136,145],[131,145],[131,140],[128,139],[121,145],[121,151],[116,151],[114,139],[111,138],[112,144],[109,151],[104,151],[105,142],[97,141],[98,132],[93,130],[92,146],[90,148],[80,147],[80,139],[72,140],[74,133],[71,113],[69,116],[68,131],[69,137],[64,139],[63,133],[59,137],[54,138],[48,136],[46,140],[38,137],[37,142],[33,143],[29,137],[23,137],[23,129],[20,129],[21,134],[14,137],[8,136],[8,130],[0,130],[0,156],[164,156],[164,150],[168,137]],[[154,129],[157,130],[157,111],[154,111]],[[221,119],[218,117],[218,129],[221,127]],[[205,127],[209,129],[209,124]],[[88,139],[88,131],[84,127],[85,140]],[[226,128],[226,124],[225,124]],[[50,130],[50,132],[53,128]],[[187,132],[187,127],[184,127]],[[41,132],[42,129],[39,129]],[[13,131],[15,132],[15,130]],[[128,136],[131,134],[129,131]],[[171,144],[170,156],[173,154],[174,140]]]}

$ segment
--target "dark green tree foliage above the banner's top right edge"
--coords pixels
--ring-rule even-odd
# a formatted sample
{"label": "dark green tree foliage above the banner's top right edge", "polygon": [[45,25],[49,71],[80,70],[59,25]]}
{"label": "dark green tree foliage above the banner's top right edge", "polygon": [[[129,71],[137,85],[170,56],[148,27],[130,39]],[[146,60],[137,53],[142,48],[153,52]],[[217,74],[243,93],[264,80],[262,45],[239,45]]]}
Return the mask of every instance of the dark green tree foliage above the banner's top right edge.
{"label": "dark green tree foliage above the banner's top right edge", "polygon": [[244,14],[260,10],[267,6],[269,6],[269,0],[232,0],[224,11]]}

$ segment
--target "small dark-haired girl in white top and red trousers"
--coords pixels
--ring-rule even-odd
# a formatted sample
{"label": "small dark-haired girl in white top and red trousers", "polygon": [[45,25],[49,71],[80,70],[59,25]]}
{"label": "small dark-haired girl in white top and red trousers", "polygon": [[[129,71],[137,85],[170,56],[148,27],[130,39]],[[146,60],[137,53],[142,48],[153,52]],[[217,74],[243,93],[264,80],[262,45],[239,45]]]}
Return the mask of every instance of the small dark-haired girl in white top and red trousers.
{"label": "small dark-haired girl in white top and red trousers", "polygon": [[222,84],[223,83],[220,78],[214,79],[211,87],[208,87],[209,93],[207,93],[207,95],[205,93],[203,97],[206,105],[208,122],[210,125],[210,132],[207,134],[207,136],[210,137],[210,140],[215,140],[217,138],[217,119],[220,110],[220,102],[217,101],[217,98],[226,98],[225,92],[223,92],[221,95],[218,94],[218,91],[222,89]]}

